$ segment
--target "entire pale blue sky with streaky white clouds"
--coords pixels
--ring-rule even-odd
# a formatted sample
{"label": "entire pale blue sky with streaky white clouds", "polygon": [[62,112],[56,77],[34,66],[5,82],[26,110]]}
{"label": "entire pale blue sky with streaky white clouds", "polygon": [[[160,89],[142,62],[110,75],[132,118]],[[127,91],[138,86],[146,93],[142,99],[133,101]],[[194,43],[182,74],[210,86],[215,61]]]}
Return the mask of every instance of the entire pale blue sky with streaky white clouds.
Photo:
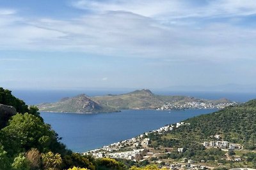
{"label": "entire pale blue sky with streaky white clouds", "polygon": [[0,0],[0,87],[256,85],[255,73],[255,0]]}

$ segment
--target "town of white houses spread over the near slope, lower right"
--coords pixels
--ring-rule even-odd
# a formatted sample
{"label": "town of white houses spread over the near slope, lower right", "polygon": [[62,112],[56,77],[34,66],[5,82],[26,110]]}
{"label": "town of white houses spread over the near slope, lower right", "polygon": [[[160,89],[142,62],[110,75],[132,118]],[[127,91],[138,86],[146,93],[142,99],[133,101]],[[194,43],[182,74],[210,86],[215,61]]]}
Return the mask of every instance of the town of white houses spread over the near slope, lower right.
{"label": "town of white houses spread over the near slope, lower right", "polygon": [[[154,131],[145,132],[140,136],[135,138],[127,139],[117,143],[113,143],[108,146],[103,146],[102,148],[96,150],[90,150],[84,152],[83,155],[93,155],[96,158],[109,157],[113,159],[126,159],[132,160],[134,162],[148,161],[155,164],[159,164],[159,167],[165,167],[168,169],[214,169],[214,167],[206,166],[205,160],[196,162],[193,159],[182,158],[179,162],[170,163],[168,159],[163,159],[163,155],[172,152],[172,148],[162,148],[156,150],[148,146],[150,139],[148,135],[150,133],[163,134],[164,132],[172,131],[173,128],[179,128],[183,125],[190,125],[185,122],[178,122],[174,125],[166,125]],[[221,140],[220,135],[213,136],[215,141],[204,141],[202,146],[206,149],[209,148],[220,148],[221,150],[243,150],[243,145],[238,143],[230,143],[228,141]],[[177,152],[184,152],[184,148],[177,148]],[[236,157],[234,161],[241,161],[241,158]],[[218,166],[223,166],[223,164],[218,164]]]}

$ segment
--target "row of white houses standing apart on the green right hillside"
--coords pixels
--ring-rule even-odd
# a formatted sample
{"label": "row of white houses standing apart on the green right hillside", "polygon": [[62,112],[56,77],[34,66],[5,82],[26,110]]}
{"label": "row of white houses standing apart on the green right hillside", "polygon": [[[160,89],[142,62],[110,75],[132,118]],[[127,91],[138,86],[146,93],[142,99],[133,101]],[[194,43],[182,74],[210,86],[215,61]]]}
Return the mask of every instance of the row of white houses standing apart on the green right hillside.
{"label": "row of white houses standing apart on the green right hillside", "polygon": [[243,145],[237,143],[228,143],[228,141],[204,141],[203,145],[206,148],[221,148],[230,150],[243,150]]}

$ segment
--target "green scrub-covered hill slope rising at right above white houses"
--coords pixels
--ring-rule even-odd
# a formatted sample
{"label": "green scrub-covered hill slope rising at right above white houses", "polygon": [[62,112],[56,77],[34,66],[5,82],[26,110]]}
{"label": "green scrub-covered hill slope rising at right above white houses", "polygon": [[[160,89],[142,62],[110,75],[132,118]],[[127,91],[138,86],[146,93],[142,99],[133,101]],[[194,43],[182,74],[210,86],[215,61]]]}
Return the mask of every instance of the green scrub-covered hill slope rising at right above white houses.
{"label": "green scrub-covered hill slope rising at right above white houses", "polygon": [[225,141],[241,143],[248,149],[256,148],[256,100],[190,118],[185,122],[190,125],[180,127],[172,133],[187,132],[196,141],[212,139],[212,136],[218,134]]}

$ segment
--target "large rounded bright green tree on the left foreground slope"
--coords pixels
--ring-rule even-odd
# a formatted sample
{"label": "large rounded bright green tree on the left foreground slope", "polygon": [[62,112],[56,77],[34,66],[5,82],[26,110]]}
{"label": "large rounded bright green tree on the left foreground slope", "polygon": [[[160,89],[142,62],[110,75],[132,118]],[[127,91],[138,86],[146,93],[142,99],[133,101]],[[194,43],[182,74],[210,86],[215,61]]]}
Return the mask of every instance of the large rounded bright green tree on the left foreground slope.
{"label": "large rounded bright green tree on the left foreground slope", "polygon": [[44,124],[41,118],[29,113],[17,114],[10,120],[10,125],[1,129],[2,143],[10,155],[37,148],[40,152],[54,151],[58,143],[56,132]]}

